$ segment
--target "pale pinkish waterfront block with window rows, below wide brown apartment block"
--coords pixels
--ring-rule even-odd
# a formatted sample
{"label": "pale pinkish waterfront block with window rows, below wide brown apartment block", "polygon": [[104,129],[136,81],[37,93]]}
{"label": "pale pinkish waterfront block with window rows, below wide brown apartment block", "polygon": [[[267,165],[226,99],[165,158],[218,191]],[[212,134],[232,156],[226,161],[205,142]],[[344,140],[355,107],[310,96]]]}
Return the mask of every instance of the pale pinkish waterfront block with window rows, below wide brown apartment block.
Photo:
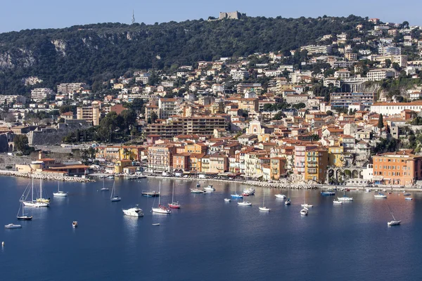
{"label": "pale pinkish waterfront block with window rows, below wide brown apartment block", "polygon": [[148,169],[150,171],[172,171],[174,145],[154,145],[148,148]]}

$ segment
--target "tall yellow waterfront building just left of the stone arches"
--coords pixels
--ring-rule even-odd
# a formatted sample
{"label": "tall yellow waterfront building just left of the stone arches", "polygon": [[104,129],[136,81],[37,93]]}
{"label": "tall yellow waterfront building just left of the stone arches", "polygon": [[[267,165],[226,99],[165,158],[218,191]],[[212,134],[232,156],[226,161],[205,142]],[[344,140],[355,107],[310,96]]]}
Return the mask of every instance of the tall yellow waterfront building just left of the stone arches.
{"label": "tall yellow waterfront building just left of the stone arches", "polygon": [[314,148],[305,154],[305,181],[324,183],[328,166],[328,150]]}

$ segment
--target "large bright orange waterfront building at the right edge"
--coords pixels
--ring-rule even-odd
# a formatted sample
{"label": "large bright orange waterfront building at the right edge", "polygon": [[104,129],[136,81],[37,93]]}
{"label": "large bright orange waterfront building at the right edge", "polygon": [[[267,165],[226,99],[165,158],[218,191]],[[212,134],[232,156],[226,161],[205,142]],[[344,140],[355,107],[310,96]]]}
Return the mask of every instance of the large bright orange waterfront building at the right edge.
{"label": "large bright orange waterfront building at the right edge", "polygon": [[376,184],[413,185],[422,178],[422,156],[409,152],[387,152],[373,156]]}

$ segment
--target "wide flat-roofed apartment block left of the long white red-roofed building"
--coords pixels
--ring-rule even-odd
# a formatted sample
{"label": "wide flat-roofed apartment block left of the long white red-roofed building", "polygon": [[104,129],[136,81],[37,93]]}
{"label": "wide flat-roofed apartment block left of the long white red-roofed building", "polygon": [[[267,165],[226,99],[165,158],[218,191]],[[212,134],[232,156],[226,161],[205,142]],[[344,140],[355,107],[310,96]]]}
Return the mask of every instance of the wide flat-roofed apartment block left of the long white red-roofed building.
{"label": "wide flat-roofed apartment block left of the long white red-roofed building", "polygon": [[331,108],[347,108],[359,103],[369,108],[376,101],[376,93],[330,93]]}

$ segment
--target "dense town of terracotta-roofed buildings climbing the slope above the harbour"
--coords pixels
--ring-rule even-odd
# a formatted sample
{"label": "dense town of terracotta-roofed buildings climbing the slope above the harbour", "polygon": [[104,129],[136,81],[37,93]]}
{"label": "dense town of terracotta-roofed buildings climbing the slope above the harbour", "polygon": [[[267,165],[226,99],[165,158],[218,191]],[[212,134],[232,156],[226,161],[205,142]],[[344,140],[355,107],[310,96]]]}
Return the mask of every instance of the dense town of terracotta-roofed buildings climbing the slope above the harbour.
{"label": "dense town of terracotta-roofed buildings climbing the slope above the harbour", "polygon": [[354,30],[100,87],[27,77],[27,96],[0,96],[1,168],[419,187],[422,27],[370,18]]}

